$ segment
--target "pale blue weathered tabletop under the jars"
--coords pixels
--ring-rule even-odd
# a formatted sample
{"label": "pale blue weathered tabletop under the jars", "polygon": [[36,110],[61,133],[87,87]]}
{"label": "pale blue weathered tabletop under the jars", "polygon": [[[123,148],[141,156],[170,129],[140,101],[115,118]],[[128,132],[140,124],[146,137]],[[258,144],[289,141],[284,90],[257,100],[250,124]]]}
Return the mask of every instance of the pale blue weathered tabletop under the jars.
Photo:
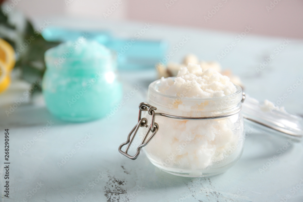
{"label": "pale blue weathered tabletop under the jars", "polygon": [[[43,19],[44,20],[44,19]],[[41,22],[43,22],[43,20]],[[108,21],[71,21],[51,19],[53,25],[111,30],[117,36],[134,37],[144,23]],[[36,22],[38,26],[40,21]],[[151,23],[142,39],[164,38],[174,55],[170,61],[180,62],[194,53],[200,59],[217,60],[217,55],[241,33],[220,33],[184,27],[167,27]],[[243,31],[245,27],[243,27]],[[185,45],[173,49],[184,36]],[[278,101],[287,94],[282,105],[290,113],[303,114],[303,84],[290,93],[289,86],[303,77],[303,41],[289,39],[285,48],[259,74],[260,62],[275,54],[284,38],[267,38],[247,34],[220,61],[239,75],[245,92],[258,100]],[[5,110],[23,91],[13,97],[0,95],[1,190],[3,190],[4,129],[10,133],[10,198],[2,201],[303,201],[303,147],[294,143],[281,155],[277,153],[287,140],[267,133],[253,132],[245,141],[244,152],[235,166],[224,174],[206,178],[185,178],[167,174],[147,159],[144,153],[132,161],[118,153],[118,146],[137,122],[138,104],[146,101],[147,87],[157,78],[154,69],[120,72],[124,94],[135,85],[142,86],[112,117],[88,123],[68,123],[53,117],[45,108],[41,95],[22,103],[12,114]],[[48,121],[52,121],[47,128]],[[38,132],[44,130],[43,134]],[[47,129],[47,130],[46,130]],[[90,136],[86,136],[90,134]],[[37,137],[25,153],[20,150]],[[85,140],[86,138],[86,140]],[[84,143],[82,146],[78,142]],[[80,145],[80,146],[79,146]],[[71,151],[76,153],[62,166]],[[284,151],[284,150],[283,150]],[[274,155],[277,160],[271,161]],[[68,159],[68,158],[67,158]],[[269,160],[268,160],[269,159]],[[62,163],[62,162],[61,162]],[[260,173],[263,164],[270,166]],[[300,185],[301,182],[301,185]],[[293,188],[297,187],[297,188]],[[38,189],[38,190],[36,190]],[[85,191],[87,193],[85,193]],[[36,192],[36,193],[34,193]],[[82,197],[82,195],[85,195]],[[288,197],[288,199],[286,199]],[[80,199],[80,200],[79,200]]]}

